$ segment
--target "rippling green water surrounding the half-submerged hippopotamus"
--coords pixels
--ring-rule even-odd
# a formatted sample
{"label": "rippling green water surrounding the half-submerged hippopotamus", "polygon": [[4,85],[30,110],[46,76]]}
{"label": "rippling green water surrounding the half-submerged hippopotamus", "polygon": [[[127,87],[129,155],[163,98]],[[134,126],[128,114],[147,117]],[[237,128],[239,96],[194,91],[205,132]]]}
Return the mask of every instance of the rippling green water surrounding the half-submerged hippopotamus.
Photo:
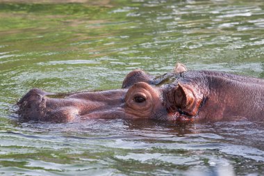
{"label": "rippling green water surrounding the half-submerged hippopotamus", "polygon": [[264,174],[263,124],[19,123],[13,113],[30,88],[120,88],[131,70],[159,75],[176,61],[264,78],[262,0],[0,2],[1,175]]}

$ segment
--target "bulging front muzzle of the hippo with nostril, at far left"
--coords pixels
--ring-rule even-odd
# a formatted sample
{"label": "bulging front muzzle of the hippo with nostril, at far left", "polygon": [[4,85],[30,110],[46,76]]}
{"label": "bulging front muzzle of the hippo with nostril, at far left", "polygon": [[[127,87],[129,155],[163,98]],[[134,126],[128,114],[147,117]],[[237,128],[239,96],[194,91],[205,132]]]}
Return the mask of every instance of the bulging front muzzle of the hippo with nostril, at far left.
{"label": "bulging front muzzle of the hippo with nostril, at far left", "polygon": [[19,120],[67,122],[76,118],[83,100],[49,97],[53,95],[56,94],[47,93],[38,88],[29,90],[17,102]]}

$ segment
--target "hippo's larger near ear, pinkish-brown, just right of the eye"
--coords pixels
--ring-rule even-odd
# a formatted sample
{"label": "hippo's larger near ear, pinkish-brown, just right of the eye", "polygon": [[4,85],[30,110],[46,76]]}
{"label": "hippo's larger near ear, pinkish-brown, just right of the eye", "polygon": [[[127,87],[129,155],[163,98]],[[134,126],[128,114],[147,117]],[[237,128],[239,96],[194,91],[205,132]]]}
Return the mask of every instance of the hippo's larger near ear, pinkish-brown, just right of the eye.
{"label": "hippo's larger near ear, pinkish-brown, just right of the eye", "polygon": [[196,115],[201,99],[194,88],[178,83],[174,92],[174,102],[187,115]]}

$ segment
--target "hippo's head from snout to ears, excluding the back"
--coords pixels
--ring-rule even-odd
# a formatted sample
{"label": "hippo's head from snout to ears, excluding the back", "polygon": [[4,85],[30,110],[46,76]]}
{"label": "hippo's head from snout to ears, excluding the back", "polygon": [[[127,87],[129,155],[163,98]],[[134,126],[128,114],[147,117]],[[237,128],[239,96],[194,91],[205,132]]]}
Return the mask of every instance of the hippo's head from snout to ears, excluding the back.
{"label": "hippo's head from snout to ears, excluding the back", "polygon": [[196,115],[201,97],[194,88],[177,81],[185,71],[181,64],[160,77],[134,70],[117,90],[54,94],[33,88],[17,103],[17,112],[20,120],[51,122],[88,118],[189,120]]}

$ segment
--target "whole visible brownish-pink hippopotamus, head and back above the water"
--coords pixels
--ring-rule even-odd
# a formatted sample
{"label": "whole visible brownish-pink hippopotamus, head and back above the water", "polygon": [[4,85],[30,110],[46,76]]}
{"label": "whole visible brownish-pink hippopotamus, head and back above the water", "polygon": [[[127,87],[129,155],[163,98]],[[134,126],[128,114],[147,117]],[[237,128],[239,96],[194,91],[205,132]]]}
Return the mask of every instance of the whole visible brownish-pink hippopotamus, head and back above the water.
{"label": "whole visible brownish-pink hippopotamus, head and back above the water", "polygon": [[142,70],[122,88],[55,94],[33,88],[17,102],[19,120],[69,122],[93,118],[215,122],[264,121],[264,80],[226,72],[187,70],[177,63],[158,77]]}

